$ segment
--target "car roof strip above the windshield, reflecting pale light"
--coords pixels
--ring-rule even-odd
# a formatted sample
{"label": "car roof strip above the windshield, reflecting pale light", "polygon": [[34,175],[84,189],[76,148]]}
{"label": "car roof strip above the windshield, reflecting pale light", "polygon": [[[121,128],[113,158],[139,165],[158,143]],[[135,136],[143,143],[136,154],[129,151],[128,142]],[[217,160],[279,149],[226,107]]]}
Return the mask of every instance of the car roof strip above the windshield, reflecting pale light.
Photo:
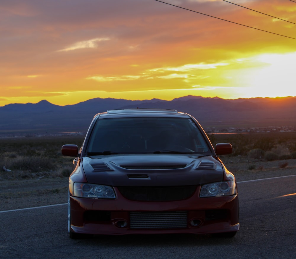
{"label": "car roof strip above the windshield, reflecting pale light", "polygon": [[184,112],[178,112],[173,109],[118,109],[108,110],[107,112],[97,114],[103,118],[118,117],[189,117]]}

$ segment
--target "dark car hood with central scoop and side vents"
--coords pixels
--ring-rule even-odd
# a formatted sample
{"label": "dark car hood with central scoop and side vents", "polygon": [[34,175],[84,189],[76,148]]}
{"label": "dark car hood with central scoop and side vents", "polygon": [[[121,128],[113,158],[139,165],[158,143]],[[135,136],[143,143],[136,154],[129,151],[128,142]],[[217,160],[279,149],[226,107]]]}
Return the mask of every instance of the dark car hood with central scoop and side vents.
{"label": "dark car hood with central scoop and side vents", "polygon": [[184,186],[223,180],[223,166],[213,156],[175,154],[83,157],[89,183],[111,186]]}

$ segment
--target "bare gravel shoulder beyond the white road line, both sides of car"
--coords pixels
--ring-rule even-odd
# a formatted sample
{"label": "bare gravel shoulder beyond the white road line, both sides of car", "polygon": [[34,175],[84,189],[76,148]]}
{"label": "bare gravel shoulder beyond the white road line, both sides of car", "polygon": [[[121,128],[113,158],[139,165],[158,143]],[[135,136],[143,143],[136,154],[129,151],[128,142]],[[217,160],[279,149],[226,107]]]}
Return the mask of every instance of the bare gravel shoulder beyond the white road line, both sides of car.
{"label": "bare gravel shoulder beyond the white road line, both sides of car", "polygon": [[[221,160],[236,176],[237,182],[296,174],[296,159],[266,162],[221,157]],[[67,202],[67,177],[54,177],[50,173],[0,172],[0,185],[0,211]]]}

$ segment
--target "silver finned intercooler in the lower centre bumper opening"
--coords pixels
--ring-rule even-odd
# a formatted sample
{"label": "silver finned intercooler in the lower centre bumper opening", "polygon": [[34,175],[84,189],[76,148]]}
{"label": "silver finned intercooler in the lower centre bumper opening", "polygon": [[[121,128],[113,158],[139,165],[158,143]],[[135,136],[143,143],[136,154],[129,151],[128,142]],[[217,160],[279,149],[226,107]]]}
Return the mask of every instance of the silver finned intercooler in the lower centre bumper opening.
{"label": "silver finned intercooler in the lower centre bumper opening", "polygon": [[131,229],[184,229],[187,227],[187,211],[131,212]]}

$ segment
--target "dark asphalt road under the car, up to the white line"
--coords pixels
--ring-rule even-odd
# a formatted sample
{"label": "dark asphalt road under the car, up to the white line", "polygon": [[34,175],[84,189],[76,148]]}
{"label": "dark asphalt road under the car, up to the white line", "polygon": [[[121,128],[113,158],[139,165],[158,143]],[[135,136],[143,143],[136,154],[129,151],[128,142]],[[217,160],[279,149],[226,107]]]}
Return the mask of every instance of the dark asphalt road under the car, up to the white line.
{"label": "dark asphalt road under the car, up to the white line", "polygon": [[67,206],[0,212],[0,258],[296,258],[296,176],[238,183],[234,238],[67,236]]}

